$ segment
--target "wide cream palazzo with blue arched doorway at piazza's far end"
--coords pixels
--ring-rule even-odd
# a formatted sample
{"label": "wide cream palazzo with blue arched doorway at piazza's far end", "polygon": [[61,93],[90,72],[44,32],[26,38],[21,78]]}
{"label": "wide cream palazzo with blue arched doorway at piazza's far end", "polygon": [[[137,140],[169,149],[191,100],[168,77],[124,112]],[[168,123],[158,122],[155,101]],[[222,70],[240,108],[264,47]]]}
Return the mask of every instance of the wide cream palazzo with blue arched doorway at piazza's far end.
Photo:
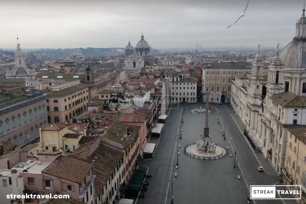
{"label": "wide cream palazzo with blue arched doorway at piazza's far end", "polygon": [[[209,58],[210,59],[210,58]],[[213,59],[213,58],[211,58]],[[213,62],[202,68],[202,93],[210,92],[211,102],[229,103],[231,98],[231,80],[242,72],[252,72],[252,63]],[[268,75],[268,65],[264,66],[264,75]]]}

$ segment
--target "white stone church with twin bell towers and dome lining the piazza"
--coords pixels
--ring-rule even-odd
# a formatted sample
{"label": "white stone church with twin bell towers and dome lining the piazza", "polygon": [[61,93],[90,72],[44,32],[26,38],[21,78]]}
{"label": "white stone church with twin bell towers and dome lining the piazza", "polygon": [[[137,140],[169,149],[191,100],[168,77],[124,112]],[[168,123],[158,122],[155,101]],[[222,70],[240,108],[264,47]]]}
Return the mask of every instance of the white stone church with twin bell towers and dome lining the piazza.
{"label": "white stone church with twin bell towers and dome lining the piazza", "polygon": [[[244,122],[246,137],[250,138],[254,150],[261,151],[276,172],[284,175],[287,172],[282,167],[286,160],[289,133],[286,128],[306,126],[305,29],[303,9],[293,40],[281,54],[277,46],[267,79],[263,78],[258,51],[252,62],[252,74],[245,78],[238,76],[241,79],[236,77],[232,81],[231,104]],[[298,149],[297,144],[292,144],[292,148]]]}

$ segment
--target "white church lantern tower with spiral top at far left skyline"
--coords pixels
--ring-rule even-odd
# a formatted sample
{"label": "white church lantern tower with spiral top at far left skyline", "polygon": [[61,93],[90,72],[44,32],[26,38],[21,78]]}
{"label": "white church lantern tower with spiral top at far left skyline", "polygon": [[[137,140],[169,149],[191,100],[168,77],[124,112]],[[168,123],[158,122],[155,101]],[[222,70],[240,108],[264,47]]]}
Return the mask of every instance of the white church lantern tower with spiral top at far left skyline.
{"label": "white church lantern tower with spiral top at far left skyline", "polygon": [[[18,40],[18,38],[17,38]],[[20,43],[17,43],[15,52],[15,66],[12,70],[6,71],[8,79],[34,79],[36,77],[35,70],[29,69],[25,64],[25,56],[21,51]]]}

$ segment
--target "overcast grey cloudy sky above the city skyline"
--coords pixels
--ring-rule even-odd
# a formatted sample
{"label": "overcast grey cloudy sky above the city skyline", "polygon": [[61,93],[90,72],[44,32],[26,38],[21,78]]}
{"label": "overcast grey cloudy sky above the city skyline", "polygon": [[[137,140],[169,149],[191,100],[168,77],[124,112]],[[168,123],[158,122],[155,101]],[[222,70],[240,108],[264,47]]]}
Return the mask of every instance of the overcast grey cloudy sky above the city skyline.
{"label": "overcast grey cloudy sky above the city skyline", "polygon": [[303,0],[0,0],[0,47],[136,46],[153,48],[285,46],[295,35]]}

